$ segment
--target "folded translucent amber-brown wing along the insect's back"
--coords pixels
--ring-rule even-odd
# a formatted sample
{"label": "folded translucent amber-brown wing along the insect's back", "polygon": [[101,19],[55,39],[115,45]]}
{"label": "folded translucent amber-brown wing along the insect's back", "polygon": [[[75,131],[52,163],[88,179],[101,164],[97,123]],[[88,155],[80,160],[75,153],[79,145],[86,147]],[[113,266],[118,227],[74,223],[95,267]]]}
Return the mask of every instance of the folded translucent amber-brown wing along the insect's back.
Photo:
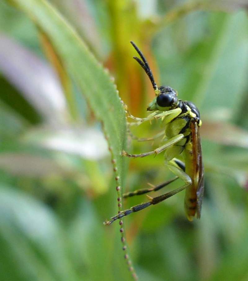
{"label": "folded translucent amber-brown wing along the insect's back", "polygon": [[197,195],[197,218],[201,217],[201,204],[204,193],[204,168],[201,154],[201,137],[197,122],[191,123],[192,146],[193,146],[193,165],[196,195]]}

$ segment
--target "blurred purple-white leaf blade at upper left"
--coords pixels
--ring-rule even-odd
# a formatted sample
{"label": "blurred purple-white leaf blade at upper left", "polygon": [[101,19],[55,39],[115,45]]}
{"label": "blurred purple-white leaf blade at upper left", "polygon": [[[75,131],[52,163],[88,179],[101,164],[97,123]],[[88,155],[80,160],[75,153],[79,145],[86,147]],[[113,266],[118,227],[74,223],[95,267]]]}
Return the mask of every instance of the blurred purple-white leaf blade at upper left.
{"label": "blurred purple-white leaf blade at upper left", "polygon": [[30,50],[0,34],[0,71],[50,123],[65,118],[65,100],[55,72]]}

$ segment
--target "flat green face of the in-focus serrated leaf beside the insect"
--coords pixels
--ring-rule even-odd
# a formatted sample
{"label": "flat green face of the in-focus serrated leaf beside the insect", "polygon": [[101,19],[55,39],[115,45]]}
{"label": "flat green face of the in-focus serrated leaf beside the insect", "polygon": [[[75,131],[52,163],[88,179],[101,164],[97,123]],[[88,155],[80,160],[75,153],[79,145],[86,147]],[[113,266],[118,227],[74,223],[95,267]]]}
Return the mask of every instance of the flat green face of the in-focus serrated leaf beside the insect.
{"label": "flat green face of the in-focus serrated leaf beside the insect", "polygon": [[11,3],[29,15],[46,34],[63,61],[66,72],[72,75],[96,117],[103,122],[116,160],[119,183],[122,185],[124,160],[120,151],[125,149],[126,144],[126,119],[111,77],[89,52],[78,34],[47,1],[14,0]]}

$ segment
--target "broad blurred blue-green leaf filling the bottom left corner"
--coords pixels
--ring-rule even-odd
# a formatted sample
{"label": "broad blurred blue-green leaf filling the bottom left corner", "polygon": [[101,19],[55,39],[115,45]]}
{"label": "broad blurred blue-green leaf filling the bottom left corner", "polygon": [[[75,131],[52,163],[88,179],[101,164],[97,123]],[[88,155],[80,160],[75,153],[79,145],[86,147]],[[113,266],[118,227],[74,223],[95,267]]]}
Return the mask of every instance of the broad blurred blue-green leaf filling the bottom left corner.
{"label": "broad blurred blue-green leaf filling the bottom left corner", "polygon": [[0,186],[0,216],[1,280],[79,280],[59,220],[45,204]]}

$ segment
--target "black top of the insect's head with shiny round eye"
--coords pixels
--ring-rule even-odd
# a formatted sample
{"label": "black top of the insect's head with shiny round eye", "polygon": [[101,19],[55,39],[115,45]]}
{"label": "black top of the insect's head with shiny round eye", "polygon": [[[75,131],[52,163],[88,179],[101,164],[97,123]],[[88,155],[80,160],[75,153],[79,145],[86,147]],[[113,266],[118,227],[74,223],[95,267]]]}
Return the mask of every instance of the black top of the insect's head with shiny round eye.
{"label": "black top of the insect's head with shiny round eye", "polygon": [[157,105],[160,107],[171,107],[177,104],[177,92],[167,86],[160,86],[158,88],[159,94],[157,96]]}

